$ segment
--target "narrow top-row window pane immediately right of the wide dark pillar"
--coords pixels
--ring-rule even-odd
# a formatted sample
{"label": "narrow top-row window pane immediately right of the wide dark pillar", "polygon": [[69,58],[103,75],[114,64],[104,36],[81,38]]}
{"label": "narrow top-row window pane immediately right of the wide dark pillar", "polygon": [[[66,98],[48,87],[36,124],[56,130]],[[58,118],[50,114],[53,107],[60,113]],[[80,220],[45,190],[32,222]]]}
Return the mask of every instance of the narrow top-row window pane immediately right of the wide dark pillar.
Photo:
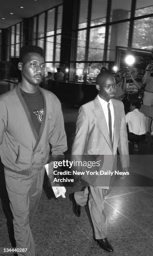
{"label": "narrow top-row window pane immediately right of the wide dark pillar", "polygon": [[80,0],[79,28],[87,27],[88,0]]}

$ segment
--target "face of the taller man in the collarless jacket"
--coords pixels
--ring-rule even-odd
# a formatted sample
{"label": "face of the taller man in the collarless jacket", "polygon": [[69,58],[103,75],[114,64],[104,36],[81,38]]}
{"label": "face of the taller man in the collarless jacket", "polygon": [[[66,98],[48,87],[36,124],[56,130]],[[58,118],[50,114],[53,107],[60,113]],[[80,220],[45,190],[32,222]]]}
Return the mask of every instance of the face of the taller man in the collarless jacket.
{"label": "face of the taller man in the collarless jacket", "polygon": [[[21,63],[22,64],[22,63]],[[45,64],[43,56],[37,53],[29,53],[20,69],[22,80],[32,85],[40,85],[44,74]]]}

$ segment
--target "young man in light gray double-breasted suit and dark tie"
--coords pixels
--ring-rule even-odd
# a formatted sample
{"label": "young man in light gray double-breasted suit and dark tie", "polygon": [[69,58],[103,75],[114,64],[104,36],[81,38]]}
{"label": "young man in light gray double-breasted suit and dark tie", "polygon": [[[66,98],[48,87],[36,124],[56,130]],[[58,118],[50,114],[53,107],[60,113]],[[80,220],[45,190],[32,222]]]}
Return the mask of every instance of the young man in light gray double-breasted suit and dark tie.
{"label": "young man in light gray double-breasted suit and dark tie", "polygon": [[[125,172],[122,179],[126,177],[129,167],[124,107],[121,101],[113,99],[115,87],[113,74],[109,72],[98,74],[96,79],[98,96],[79,110],[72,155],[82,161],[87,158],[95,160],[100,166],[96,175],[88,174],[82,177],[88,182],[89,187],[70,195],[73,212],[78,217],[80,217],[80,208],[86,205],[88,200],[95,239],[101,248],[109,252],[113,251],[113,247],[106,238],[107,218],[104,212],[104,200],[113,185],[117,149],[120,153],[122,171]],[[93,168],[95,170],[95,167]],[[113,175],[100,175],[100,170],[111,171]],[[91,172],[93,172],[92,168]],[[75,179],[80,182],[79,175]]]}

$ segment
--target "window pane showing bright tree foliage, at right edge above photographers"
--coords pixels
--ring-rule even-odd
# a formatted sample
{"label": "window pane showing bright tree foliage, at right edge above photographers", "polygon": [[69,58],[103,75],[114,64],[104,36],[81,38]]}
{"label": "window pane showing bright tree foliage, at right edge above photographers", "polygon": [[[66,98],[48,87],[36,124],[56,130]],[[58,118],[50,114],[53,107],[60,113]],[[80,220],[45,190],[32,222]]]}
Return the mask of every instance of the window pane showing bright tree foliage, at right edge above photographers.
{"label": "window pane showing bright tree foliage, at right edge above photographers", "polygon": [[153,17],[134,21],[132,47],[138,49],[153,49]]}

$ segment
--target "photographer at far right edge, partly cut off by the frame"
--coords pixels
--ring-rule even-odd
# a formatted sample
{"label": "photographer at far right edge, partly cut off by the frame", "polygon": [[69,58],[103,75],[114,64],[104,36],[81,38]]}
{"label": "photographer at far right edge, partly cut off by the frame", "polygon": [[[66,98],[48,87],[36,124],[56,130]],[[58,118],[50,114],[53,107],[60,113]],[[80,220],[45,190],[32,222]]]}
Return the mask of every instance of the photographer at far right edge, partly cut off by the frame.
{"label": "photographer at far right edge, partly cut off by the frame", "polygon": [[[145,74],[142,79],[145,85],[145,92],[143,95],[143,105],[153,106],[153,57],[150,59],[149,64],[145,69]],[[149,117],[146,117],[146,131],[151,130],[151,135],[153,135],[153,121],[151,122],[151,127],[148,128]]]}

